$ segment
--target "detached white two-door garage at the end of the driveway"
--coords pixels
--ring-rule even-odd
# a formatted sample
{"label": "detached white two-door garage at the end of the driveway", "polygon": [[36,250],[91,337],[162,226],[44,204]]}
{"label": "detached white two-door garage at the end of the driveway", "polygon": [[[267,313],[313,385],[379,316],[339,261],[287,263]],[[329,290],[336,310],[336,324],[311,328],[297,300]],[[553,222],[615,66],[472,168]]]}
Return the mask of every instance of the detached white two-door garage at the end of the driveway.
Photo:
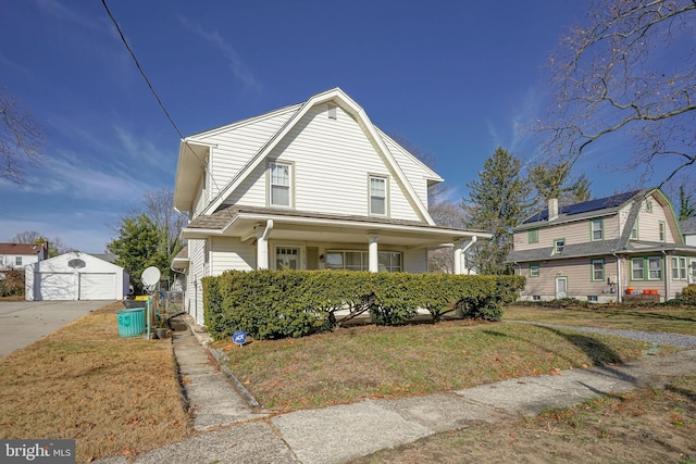
{"label": "detached white two-door garage at the end of the driveway", "polygon": [[121,300],[128,294],[123,267],[79,251],[25,266],[26,299]]}

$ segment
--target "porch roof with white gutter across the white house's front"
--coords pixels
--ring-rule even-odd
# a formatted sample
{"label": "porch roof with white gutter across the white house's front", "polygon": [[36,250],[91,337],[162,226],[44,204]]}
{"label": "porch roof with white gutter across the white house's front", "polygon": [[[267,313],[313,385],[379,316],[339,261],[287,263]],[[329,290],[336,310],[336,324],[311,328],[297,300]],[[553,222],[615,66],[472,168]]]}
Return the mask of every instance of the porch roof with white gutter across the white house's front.
{"label": "porch roof with white gutter across the white house's front", "polygon": [[417,221],[238,205],[196,217],[182,230],[182,237],[239,237],[246,241],[264,230],[269,221],[273,221],[270,234],[273,240],[364,242],[365,236],[376,234],[383,244],[432,248],[471,240],[474,236],[478,240],[490,238],[490,234],[478,230],[432,226]]}

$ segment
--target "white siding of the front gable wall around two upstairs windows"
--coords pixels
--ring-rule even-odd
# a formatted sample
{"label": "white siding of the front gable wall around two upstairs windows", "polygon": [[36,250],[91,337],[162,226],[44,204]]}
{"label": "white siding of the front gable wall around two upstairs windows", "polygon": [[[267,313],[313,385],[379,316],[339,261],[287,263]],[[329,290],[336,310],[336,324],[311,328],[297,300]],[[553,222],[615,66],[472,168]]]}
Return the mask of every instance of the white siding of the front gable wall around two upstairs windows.
{"label": "white siding of the front gable wall around two upstairs windows", "polygon": [[[368,179],[374,174],[389,179],[390,217],[420,220],[385,160],[340,108],[335,120],[327,117],[325,104],[311,109],[269,159],[293,163],[296,210],[368,215]],[[266,206],[266,167],[261,163],[225,203]]]}

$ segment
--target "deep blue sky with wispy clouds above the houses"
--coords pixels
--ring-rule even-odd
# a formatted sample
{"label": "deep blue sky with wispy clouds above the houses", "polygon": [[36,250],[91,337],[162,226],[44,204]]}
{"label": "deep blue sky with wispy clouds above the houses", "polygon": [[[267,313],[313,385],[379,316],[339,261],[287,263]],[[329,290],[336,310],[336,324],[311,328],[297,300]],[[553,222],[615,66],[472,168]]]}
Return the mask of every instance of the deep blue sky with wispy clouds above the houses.
{"label": "deep blue sky with wispy clouds above the houses", "polygon": [[[436,161],[457,201],[501,146],[534,160],[545,64],[576,0],[110,0],[184,136],[340,87]],[[37,230],[102,252],[149,190],[173,188],[179,138],[100,0],[0,3],[0,86],[45,128],[46,159],[0,179],[0,241]],[[616,143],[616,142],[614,142]],[[620,152],[621,146],[612,147]],[[606,167],[606,166],[605,166]],[[587,160],[596,197],[629,186]]]}

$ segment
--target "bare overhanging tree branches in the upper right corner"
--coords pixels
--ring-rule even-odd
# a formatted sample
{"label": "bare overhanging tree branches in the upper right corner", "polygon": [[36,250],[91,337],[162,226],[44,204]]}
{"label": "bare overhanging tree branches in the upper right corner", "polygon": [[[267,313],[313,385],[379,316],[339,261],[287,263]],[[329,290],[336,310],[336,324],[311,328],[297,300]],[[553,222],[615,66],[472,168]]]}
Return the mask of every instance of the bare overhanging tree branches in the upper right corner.
{"label": "bare overhanging tree branches in the upper right corner", "polygon": [[599,139],[631,137],[627,170],[669,181],[696,162],[694,0],[593,0],[551,58],[547,154],[574,164]]}

